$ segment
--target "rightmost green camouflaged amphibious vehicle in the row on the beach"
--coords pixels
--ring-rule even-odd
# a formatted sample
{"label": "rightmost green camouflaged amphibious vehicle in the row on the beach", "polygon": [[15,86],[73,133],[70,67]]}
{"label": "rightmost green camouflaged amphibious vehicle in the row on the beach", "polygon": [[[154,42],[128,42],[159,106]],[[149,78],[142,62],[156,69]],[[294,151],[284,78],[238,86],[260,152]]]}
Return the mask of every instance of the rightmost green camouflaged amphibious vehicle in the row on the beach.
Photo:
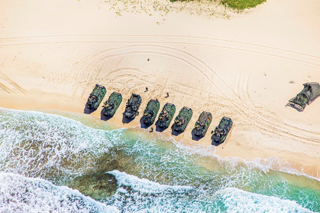
{"label": "rightmost green camouflaged amphibious vehicle in the row on the beach", "polygon": [[224,142],[227,139],[229,132],[232,130],[232,124],[231,118],[223,117],[219,125],[214,129],[211,144],[213,145],[213,142]]}

